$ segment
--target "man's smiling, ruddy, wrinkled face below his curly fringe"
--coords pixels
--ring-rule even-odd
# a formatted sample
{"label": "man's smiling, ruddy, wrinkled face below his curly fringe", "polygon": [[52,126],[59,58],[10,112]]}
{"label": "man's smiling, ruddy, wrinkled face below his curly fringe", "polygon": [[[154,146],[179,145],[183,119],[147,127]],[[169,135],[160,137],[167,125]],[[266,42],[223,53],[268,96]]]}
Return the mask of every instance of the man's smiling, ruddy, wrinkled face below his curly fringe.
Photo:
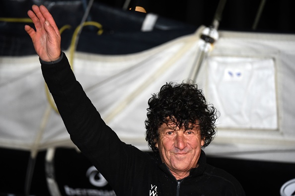
{"label": "man's smiling, ruddy, wrinkled face below his curly fringe", "polygon": [[199,126],[184,131],[174,123],[163,123],[159,129],[156,147],[162,161],[167,165],[176,179],[189,175],[192,168],[197,167],[204,140],[201,139]]}

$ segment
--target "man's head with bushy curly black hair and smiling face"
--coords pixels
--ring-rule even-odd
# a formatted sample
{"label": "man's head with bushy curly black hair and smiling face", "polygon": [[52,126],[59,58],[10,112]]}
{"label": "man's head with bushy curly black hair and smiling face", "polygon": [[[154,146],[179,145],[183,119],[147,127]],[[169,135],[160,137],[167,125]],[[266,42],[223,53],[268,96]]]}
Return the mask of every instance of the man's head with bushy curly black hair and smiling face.
{"label": "man's head with bushy curly black hair and smiling face", "polygon": [[148,101],[146,139],[177,180],[198,167],[201,148],[216,134],[216,109],[190,83],[167,83]]}

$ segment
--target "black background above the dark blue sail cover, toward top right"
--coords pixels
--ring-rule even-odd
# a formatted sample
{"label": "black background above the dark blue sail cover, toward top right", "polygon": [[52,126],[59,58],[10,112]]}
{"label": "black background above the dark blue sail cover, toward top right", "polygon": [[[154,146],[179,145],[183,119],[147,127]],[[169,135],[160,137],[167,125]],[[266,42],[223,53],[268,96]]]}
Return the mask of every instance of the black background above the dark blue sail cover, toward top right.
{"label": "black background above the dark blue sail cover, toward top right", "polygon": [[[123,7],[125,0],[96,0]],[[179,20],[195,26],[210,26],[222,0],[132,0],[130,5],[147,12]],[[225,0],[219,29],[233,31],[295,33],[294,0]],[[260,20],[253,29],[260,4],[264,2]]]}

